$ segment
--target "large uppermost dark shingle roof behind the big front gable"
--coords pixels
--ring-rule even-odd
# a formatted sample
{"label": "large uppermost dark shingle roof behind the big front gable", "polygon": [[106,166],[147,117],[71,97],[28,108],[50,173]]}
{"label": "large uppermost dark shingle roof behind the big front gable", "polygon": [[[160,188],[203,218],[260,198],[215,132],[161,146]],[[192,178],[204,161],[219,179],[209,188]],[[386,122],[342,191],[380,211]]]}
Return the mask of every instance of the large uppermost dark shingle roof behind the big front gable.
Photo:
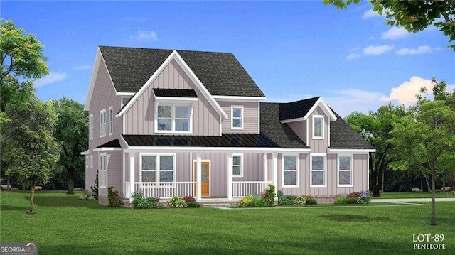
{"label": "large uppermost dark shingle roof behind the big front gable", "polygon": [[[117,92],[137,92],[173,50],[100,46]],[[264,97],[232,53],[177,50],[213,95]]]}

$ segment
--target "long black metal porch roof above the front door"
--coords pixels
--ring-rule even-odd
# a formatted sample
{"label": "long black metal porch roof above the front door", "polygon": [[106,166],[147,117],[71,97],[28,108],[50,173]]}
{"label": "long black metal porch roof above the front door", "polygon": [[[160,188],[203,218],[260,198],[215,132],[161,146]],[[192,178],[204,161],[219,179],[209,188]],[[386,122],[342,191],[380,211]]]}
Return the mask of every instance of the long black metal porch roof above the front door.
{"label": "long black metal porch roof above the front door", "polygon": [[122,135],[129,146],[279,148],[264,134],[223,134],[223,136]]}

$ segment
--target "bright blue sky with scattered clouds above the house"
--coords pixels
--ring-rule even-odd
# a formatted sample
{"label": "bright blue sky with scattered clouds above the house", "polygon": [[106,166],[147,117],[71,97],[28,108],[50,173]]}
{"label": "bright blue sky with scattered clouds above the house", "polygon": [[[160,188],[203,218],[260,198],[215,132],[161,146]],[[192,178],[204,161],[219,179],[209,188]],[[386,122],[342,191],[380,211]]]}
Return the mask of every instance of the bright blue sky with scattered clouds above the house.
{"label": "bright blue sky with scattered clouds above the house", "polygon": [[1,1],[45,45],[38,97],[84,103],[98,45],[231,52],[269,102],[322,96],[341,116],[410,105],[435,76],[455,87],[455,53],[431,27],[407,33],[368,2]]}

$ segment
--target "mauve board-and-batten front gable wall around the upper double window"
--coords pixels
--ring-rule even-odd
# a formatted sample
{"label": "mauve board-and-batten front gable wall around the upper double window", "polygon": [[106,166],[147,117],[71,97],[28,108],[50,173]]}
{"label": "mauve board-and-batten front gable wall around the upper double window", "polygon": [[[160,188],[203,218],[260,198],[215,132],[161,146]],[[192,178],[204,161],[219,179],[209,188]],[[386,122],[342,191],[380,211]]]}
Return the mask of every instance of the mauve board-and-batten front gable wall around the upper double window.
{"label": "mauve board-and-batten front gable wall around the upper double window", "polygon": [[156,80],[124,114],[125,134],[154,134],[154,88],[194,89],[198,95],[198,101],[193,106],[193,134],[186,135],[220,135],[220,115],[175,60],[164,68]]}

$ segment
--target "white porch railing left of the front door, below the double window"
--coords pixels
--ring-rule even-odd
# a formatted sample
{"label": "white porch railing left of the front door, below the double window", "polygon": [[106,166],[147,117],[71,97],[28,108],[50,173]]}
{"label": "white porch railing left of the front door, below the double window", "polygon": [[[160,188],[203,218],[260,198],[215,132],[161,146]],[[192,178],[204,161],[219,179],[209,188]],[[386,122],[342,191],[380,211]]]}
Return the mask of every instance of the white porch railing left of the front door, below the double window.
{"label": "white porch railing left of the front door, below the double window", "polygon": [[195,197],[196,182],[134,183],[134,192],[144,197],[171,198],[174,195]]}

